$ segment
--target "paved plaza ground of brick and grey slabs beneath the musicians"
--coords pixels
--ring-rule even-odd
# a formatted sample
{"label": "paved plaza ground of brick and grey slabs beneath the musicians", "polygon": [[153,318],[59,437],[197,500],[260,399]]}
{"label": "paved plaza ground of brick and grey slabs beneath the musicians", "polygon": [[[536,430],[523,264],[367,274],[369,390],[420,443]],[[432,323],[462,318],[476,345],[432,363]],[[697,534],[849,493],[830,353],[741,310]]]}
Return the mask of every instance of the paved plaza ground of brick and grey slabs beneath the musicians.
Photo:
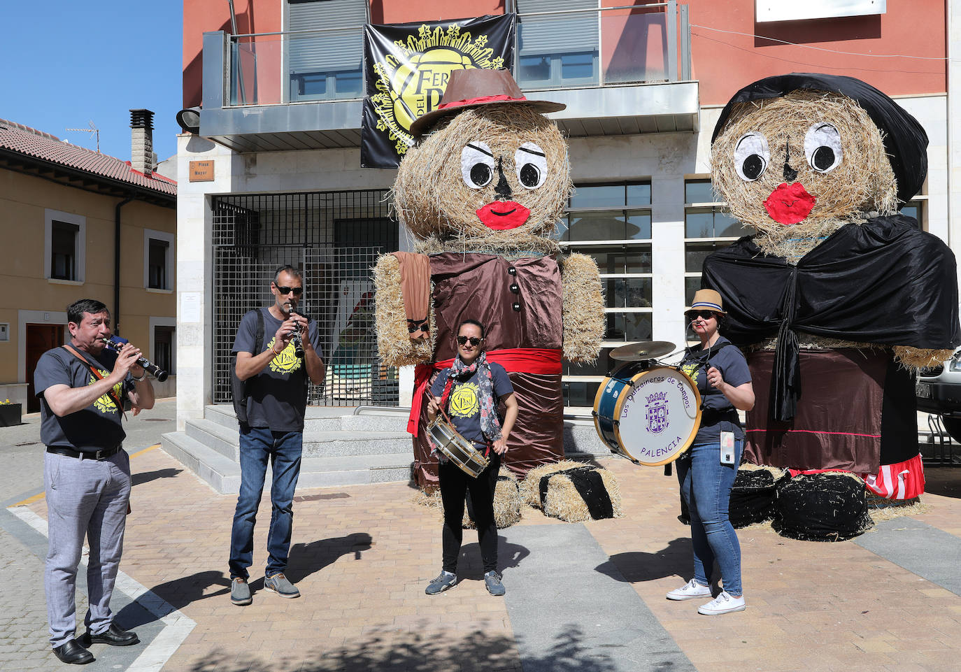
{"label": "paved plaza ground of brick and grey slabs beneath the musicians", "polygon": [[[6,443],[0,431],[0,446]],[[628,641],[628,635],[643,638],[646,614],[667,638],[660,654],[630,661],[630,669],[642,672],[680,669],[658,663],[675,659],[702,672],[949,672],[961,660],[961,596],[899,565],[935,549],[943,556],[961,548],[955,545],[961,543],[961,471],[949,468],[929,470],[926,512],[862,537],[867,542],[874,540],[870,535],[886,535],[877,537],[875,552],[852,541],[794,541],[765,527],[741,531],[748,610],[707,617],[697,614],[696,601],[664,599],[691,571],[689,531],[677,520],[676,479],[626,460],[603,461],[619,480],[625,517],[570,526],[528,510],[520,527],[502,534],[508,599],[484,590],[472,531],[464,533],[460,584],[434,597],[424,594],[439,569],[440,515],[413,504],[415,490],[407,485],[304,490],[294,504],[287,572],[303,597],[284,600],[265,592],[257,580],[254,604],[244,608],[230,604],[226,575],[235,498],[214,493],[160,449],[137,454],[132,465],[136,486],[121,570],[151,592],[120,607],[117,618],[149,640],[130,647],[139,659],[124,666],[98,657],[86,666],[91,672],[613,672],[628,668],[619,641]],[[36,493],[36,483],[24,475],[15,482],[0,479],[8,507],[19,501],[17,496]],[[25,510],[40,520],[46,515],[42,499]],[[43,646],[31,648],[30,641],[15,637],[0,640],[0,669],[69,669],[46,648],[42,590],[37,593],[42,585],[37,546],[43,548],[38,533],[10,510],[3,512],[12,516],[0,526],[4,631],[36,638]],[[255,535],[255,577],[265,561],[269,515],[265,497]],[[538,527],[527,530],[530,526]],[[593,543],[571,540],[581,532]],[[913,558],[885,550],[888,537],[895,543],[910,539]],[[539,560],[552,554],[565,561]],[[591,560],[580,562],[581,557]],[[947,560],[956,566],[961,557]],[[538,593],[537,582],[543,592]],[[21,589],[24,585],[30,588]],[[595,593],[590,609],[584,607],[589,596],[579,590],[585,585]],[[550,605],[542,608],[543,618],[517,611],[516,597],[525,594],[531,602]],[[576,600],[565,597],[574,594]],[[155,609],[141,609],[138,605],[152,595]],[[621,640],[591,630],[600,622],[591,619],[592,613],[615,614],[628,603],[631,610],[620,617]],[[181,627],[159,621],[157,605],[170,614],[183,613],[181,624],[196,625],[179,646],[168,646],[169,658],[141,660],[146,650],[141,647]]]}

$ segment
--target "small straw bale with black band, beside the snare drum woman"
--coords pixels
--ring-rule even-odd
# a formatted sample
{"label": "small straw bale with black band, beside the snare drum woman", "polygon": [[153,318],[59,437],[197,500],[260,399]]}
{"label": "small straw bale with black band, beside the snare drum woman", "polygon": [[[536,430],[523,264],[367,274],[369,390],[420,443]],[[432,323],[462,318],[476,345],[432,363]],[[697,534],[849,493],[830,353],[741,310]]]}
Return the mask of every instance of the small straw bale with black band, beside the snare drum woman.
{"label": "small straw bale with black band, beside the snare drum woman", "polygon": [[569,523],[616,518],[621,513],[621,493],[614,475],[606,469],[583,465],[542,476],[538,484],[545,515]]}

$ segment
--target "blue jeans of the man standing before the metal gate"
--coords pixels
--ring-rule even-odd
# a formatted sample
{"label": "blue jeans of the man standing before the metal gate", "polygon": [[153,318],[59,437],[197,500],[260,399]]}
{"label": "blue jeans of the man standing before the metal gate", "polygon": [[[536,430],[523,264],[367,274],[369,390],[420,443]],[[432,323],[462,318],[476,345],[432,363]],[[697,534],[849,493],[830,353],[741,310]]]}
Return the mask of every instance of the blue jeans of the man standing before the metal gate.
{"label": "blue jeans of the man standing before the metal gate", "polygon": [[273,464],[270,486],[270,530],[267,533],[266,576],[283,572],[290,552],[293,528],[294,489],[300,476],[303,432],[271,432],[265,427],[240,427],[240,494],[231,532],[231,579],[248,579],[247,568],[254,560],[254,524],[260,494],[267,473],[267,460]]}

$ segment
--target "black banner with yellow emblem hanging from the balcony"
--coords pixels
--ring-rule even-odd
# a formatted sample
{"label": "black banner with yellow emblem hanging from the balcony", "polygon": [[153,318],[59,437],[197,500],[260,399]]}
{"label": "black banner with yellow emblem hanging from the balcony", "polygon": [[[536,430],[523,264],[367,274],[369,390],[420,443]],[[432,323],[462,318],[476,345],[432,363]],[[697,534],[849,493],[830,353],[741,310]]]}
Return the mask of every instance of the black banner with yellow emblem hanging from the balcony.
{"label": "black banner with yellow emblem hanging from the balcony", "polygon": [[453,70],[513,69],[515,30],[513,13],[364,26],[360,165],[397,167],[414,143],[410,124],[440,104]]}

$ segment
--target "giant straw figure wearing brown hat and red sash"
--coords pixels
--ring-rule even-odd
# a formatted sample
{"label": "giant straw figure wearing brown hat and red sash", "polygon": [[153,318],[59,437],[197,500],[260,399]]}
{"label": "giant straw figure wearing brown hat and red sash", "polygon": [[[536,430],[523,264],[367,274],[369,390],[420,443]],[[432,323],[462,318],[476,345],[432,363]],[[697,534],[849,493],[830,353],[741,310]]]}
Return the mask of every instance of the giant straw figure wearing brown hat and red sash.
{"label": "giant straw figure wearing brown hat and red sash", "polygon": [[604,334],[597,264],[558,260],[551,237],[572,185],[567,143],[543,112],[563,108],[528,100],[506,70],[456,70],[438,109],[411,126],[421,139],[393,195],[414,252],[384,255],[375,286],[382,361],[418,364],[408,431],[419,485],[436,483],[424,392],[456,357],[464,319],[485,326],[487,359],[517,396],[505,465],[524,474],[563,456],[561,359],[594,361]]}

